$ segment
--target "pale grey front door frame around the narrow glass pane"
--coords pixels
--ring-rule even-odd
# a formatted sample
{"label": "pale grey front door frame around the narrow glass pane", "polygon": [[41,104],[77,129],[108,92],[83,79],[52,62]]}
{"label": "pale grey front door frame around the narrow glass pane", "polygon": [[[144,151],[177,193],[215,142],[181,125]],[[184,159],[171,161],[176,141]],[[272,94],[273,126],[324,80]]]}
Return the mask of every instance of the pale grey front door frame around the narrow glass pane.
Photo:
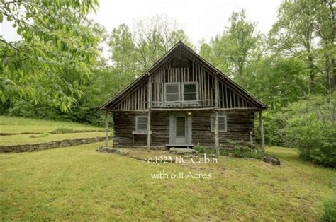
{"label": "pale grey front door frame around the narrow glass pane", "polygon": [[[176,143],[176,117],[186,118],[186,144]],[[192,145],[192,128],[191,128],[191,115],[186,112],[171,112],[169,113],[169,144],[190,146]]]}

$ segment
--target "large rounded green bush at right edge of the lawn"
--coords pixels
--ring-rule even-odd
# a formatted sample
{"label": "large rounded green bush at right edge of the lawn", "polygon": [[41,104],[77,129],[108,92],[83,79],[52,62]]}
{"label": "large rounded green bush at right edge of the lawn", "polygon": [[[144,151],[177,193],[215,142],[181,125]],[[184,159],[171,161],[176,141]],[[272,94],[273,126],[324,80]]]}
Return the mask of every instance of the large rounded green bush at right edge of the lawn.
{"label": "large rounded green bush at right edge of the lawn", "polygon": [[336,168],[336,93],[332,100],[315,96],[293,103],[286,112],[285,145],[303,160]]}

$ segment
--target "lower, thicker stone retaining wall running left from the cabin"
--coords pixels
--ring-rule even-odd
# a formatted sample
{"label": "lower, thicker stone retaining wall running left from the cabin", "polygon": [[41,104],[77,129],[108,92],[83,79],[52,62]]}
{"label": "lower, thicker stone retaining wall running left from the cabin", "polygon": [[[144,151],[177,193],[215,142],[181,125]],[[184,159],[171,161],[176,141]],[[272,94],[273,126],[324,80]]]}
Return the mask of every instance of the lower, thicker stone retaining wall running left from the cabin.
{"label": "lower, thicker stone retaining wall running left from the cabin", "polygon": [[[31,151],[45,150],[48,148],[77,146],[81,144],[91,144],[99,141],[104,141],[104,139],[105,136],[97,136],[92,138],[78,138],[78,139],[65,139],[61,141],[50,141],[43,144],[20,144],[11,146],[0,146],[0,153],[31,152]],[[109,137],[108,139],[112,138]]]}

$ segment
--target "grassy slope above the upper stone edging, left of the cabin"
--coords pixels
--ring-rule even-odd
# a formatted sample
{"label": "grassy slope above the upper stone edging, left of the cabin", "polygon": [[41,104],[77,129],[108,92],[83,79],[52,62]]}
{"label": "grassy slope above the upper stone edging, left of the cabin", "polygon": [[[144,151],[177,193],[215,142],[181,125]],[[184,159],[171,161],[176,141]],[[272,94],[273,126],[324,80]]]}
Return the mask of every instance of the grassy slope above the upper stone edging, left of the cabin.
{"label": "grassy slope above the upper stone edging, left of the cabin", "polygon": [[74,130],[99,130],[101,127],[94,127],[75,122],[62,122],[52,120],[28,119],[21,117],[8,117],[0,115],[1,133],[21,132],[51,132],[57,128],[72,128]]}

